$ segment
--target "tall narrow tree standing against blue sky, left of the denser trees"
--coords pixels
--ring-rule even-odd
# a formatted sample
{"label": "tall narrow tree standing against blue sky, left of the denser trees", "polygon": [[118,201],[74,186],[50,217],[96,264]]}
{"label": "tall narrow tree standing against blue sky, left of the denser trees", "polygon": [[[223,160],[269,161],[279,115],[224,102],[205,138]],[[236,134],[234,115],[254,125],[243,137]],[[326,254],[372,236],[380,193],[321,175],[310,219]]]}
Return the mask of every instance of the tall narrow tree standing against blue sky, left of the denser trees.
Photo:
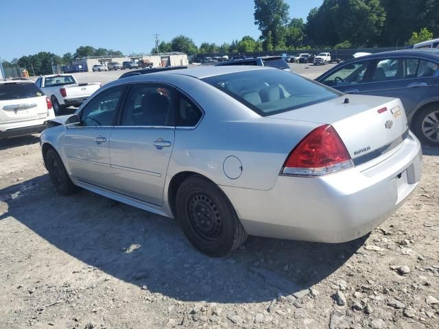
{"label": "tall narrow tree standing against blue sky, left of the denser trees", "polygon": [[[258,25],[265,45],[277,47],[285,43],[288,9],[289,5],[284,0],[254,0],[254,24]],[[269,34],[271,42],[267,40]]]}

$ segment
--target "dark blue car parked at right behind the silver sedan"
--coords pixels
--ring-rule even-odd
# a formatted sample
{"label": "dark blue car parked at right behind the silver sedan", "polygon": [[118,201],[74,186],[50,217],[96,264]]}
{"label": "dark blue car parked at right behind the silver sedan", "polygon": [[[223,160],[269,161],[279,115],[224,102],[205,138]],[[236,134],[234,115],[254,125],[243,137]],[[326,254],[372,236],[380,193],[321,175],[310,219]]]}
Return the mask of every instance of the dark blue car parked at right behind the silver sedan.
{"label": "dark blue car parked at right behind the silver sedan", "polygon": [[344,93],[401,99],[410,129],[439,146],[439,49],[404,49],[361,56],[316,80]]}

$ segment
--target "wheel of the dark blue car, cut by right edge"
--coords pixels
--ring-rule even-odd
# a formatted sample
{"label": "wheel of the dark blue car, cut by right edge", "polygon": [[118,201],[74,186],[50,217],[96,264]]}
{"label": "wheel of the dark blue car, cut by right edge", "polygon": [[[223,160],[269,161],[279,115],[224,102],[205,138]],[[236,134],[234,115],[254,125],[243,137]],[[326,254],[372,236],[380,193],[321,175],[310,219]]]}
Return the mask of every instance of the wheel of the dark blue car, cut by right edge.
{"label": "wheel of the dark blue car, cut by right edge", "polygon": [[420,143],[439,146],[439,104],[431,104],[416,113],[412,129]]}

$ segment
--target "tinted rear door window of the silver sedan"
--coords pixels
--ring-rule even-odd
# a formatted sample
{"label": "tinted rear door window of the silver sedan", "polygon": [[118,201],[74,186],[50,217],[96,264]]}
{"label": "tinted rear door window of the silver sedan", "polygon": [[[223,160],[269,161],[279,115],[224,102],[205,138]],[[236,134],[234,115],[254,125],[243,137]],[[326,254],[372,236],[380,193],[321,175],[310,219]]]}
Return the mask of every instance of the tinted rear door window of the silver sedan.
{"label": "tinted rear door window of the silver sedan", "polygon": [[136,84],[123,108],[121,125],[174,125],[171,88]]}

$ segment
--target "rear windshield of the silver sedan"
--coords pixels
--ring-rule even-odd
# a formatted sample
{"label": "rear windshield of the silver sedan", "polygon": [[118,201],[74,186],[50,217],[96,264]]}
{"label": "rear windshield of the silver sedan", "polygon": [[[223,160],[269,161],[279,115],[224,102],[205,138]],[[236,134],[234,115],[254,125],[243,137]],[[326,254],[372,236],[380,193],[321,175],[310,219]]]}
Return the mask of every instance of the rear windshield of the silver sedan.
{"label": "rear windshield of the silver sedan", "polygon": [[254,70],[202,79],[254,112],[268,115],[303,108],[340,97],[342,93],[281,70]]}

